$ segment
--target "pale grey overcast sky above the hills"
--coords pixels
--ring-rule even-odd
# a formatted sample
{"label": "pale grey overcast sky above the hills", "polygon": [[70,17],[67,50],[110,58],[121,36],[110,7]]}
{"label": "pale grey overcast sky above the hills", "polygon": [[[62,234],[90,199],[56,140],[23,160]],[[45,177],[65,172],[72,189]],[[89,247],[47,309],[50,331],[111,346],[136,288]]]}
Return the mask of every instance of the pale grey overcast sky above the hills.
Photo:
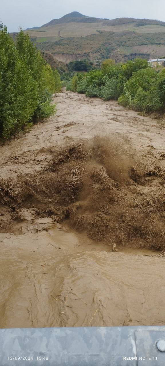
{"label": "pale grey overcast sky above the hills", "polygon": [[8,31],[41,26],[72,11],[98,18],[165,21],[165,0],[1,0],[0,19]]}

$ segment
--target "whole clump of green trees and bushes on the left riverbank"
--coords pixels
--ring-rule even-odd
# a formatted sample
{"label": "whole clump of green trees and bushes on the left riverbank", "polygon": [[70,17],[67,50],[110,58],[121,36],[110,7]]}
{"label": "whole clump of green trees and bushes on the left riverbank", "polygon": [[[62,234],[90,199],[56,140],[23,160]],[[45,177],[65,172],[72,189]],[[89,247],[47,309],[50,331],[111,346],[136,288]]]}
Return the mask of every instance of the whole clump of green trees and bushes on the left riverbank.
{"label": "whole clump of green trees and bushes on the left riverbank", "polygon": [[5,141],[56,112],[52,93],[61,89],[58,71],[46,64],[22,30],[16,42],[0,25],[0,139]]}

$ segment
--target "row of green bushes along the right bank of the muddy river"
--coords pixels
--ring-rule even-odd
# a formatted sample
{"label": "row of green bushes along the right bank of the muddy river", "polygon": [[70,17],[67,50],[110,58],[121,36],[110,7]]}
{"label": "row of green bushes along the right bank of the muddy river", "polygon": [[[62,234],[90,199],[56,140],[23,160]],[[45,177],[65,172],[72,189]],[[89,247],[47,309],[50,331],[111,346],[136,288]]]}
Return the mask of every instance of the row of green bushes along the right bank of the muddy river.
{"label": "row of green bushes along the right bank of the muddy river", "polygon": [[87,97],[118,100],[124,107],[152,112],[165,109],[165,68],[153,69],[147,60],[135,59],[125,64],[104,60],[101,70],[74,75],[67,90]]}

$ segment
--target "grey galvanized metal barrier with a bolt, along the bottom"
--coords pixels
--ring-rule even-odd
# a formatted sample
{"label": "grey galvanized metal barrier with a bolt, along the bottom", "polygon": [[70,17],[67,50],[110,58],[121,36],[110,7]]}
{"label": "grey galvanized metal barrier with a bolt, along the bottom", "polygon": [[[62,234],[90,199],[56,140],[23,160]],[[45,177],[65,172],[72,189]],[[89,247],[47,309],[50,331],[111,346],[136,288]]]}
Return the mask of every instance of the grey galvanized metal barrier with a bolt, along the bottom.
{"label": "grey galvanized metal barrier with a bolt, along the bottom", "polygon": [[0,329],[0,366],[165,366],[165,326]]}

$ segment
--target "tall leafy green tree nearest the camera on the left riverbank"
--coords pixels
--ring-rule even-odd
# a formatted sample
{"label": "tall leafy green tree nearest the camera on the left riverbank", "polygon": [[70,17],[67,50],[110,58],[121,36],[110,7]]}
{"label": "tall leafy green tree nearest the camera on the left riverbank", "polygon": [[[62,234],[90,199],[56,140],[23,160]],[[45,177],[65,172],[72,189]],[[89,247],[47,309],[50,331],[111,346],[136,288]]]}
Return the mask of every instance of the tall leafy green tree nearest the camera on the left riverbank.
{"label": "tall leafy green tree nearest the camera on the left riverbank", "polygon": [[38,88],[26,64],[19,58],[7,27],[0,25],[0,137],[20,131],[32,117]]}

